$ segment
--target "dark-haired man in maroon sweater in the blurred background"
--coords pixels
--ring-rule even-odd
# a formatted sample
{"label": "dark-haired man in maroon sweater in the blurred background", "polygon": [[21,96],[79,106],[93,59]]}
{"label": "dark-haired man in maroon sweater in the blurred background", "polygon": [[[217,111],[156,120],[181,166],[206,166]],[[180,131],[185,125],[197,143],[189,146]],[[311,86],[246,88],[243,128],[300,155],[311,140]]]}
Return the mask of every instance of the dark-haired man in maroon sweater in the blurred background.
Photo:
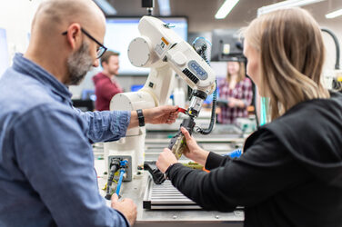
{"label": "dark-haired man in maroon sweater in the blurred background", "polygon": [[116,80],[119,70],[119,53],[106,51],[101,57],[101,66],[104,70],[93,77],[95,105],[97,111],[108,111],[113,96],[124,92]]}

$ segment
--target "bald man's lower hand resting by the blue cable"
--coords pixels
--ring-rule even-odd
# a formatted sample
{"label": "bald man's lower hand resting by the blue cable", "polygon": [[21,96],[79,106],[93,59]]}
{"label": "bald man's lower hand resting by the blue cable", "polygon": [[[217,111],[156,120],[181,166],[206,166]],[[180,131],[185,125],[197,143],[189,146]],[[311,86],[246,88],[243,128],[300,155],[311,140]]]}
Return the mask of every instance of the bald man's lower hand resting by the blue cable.
{"label": "bald man's lower hand resting by the blue cable", "polygon": [[136,222],[136,204],[131,199],[118,201],[117,194],[114,193],[111,207],[124,214],[131,226]]}

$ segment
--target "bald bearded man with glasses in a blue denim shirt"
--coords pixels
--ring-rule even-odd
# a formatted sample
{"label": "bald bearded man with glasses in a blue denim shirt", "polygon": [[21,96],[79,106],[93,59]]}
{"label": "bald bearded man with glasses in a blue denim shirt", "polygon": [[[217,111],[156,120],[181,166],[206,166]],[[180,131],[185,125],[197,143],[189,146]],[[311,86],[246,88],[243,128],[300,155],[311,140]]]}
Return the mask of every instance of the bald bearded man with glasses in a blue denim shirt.
{"label": "bald bearded man with glasses in a blue denim shirt", "polygon": [[[105,17],[92,0],[39,6],[27,52],[0,80],[0,226],[129,226],[130,199],[100,196],[91,143],[115,141],[142,124],[136,112],[81,113],[78,84],[106,51]],[[143,111],[146,123],[173,123],[176,107]]]}

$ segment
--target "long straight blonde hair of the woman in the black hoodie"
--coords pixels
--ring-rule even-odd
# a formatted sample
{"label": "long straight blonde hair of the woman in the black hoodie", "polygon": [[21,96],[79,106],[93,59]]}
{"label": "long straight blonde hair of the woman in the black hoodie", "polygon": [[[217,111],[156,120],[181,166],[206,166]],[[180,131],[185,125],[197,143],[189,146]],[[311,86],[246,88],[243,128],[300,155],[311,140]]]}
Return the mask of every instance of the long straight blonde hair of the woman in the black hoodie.
{"label": "long straight blonde hair of the woman in the black hoodie", "polygon": [[321,84],[325,46],[315,19],[301,8],[281,9],[253,20],[246,42],[260,54],[260,91],[269,97],[271,120],[292,106],[330,95]]}

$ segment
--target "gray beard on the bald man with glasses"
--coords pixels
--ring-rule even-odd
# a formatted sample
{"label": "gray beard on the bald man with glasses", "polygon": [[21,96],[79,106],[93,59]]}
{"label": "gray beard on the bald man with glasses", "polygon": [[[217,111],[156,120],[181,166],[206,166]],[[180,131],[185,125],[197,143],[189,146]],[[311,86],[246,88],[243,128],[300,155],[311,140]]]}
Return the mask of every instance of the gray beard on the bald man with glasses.
{"label": "gray beard on the bald man with glasses", "polygon": [[93,59],[89,55],[89,45],[85,42],[74,54],[67,58],[67,70],[69,74],[69,85],[77,85],[85,78],[85,74],[93,65]]}

